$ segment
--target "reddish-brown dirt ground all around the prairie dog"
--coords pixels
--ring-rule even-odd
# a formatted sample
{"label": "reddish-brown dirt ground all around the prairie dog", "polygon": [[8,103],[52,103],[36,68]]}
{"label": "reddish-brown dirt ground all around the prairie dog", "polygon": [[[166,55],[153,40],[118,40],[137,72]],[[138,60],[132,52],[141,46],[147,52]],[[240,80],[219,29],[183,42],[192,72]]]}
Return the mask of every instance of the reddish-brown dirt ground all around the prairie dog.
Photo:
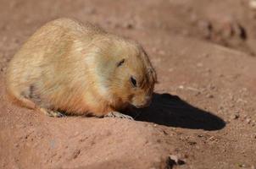
{"label": "reddish-brown dirt ground all around the prairie dog", "polygon": [[[136,121],[46,117],[5,98],[9,60],[59,17],[142,43],[159,84]],[[255,169],[255,30],[248,0],[0,0],[0,168]]]}

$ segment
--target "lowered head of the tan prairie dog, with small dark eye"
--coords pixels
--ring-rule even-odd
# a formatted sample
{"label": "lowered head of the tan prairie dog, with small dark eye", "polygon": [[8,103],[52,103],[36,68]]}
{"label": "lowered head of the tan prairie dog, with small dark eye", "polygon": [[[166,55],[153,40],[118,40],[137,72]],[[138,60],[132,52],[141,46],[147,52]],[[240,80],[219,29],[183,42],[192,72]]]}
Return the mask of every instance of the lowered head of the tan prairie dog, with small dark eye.
{"label": "lowered head of the tan prairie dog, with small dark eye", "polygon": [[97,73],[112,104],[148,106],[157,77],[142,46],[116,36],[96,44]]}

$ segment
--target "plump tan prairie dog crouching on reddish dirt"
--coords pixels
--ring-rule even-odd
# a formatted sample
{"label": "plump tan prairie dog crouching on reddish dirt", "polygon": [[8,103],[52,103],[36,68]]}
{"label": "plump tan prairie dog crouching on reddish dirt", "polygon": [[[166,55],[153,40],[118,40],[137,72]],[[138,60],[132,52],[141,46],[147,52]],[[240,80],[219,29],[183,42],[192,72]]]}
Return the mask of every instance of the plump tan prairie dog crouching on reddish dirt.
{"label": "plump tan prairie dog crouching on reddish dirt", "polygon": [[8,95],[49,116],[127,117],[128,106],[148,106],[156,73],[135,41],[73,19],[36,30],[10,61]]}

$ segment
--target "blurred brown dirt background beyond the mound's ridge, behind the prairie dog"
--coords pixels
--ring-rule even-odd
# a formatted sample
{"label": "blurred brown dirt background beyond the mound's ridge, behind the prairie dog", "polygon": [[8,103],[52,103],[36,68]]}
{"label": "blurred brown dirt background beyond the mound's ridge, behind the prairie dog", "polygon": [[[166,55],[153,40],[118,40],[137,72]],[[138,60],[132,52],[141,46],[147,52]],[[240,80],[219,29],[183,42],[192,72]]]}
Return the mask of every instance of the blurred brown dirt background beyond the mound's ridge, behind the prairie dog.
{"label": "blurred brown dirt background beyond the mound's ridge, behind the prairie dog", "polygon": [[[254,0],[1,0],[0,3],[0,43],[10,50],[47,21],[71,17],[121,34],[133,30],[164,31],[166,35],[210,41],[249,55],[256,53]],[[8,35],[13,38],[7,38]]]}

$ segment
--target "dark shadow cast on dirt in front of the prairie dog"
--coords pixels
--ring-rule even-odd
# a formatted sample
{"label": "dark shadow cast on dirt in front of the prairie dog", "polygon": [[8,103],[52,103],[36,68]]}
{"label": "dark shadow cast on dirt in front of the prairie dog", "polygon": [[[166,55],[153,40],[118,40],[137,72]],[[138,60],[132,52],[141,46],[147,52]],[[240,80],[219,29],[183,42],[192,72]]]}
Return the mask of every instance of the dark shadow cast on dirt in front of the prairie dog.
{"label": "dark shadow cast on dirt in front of the prairie dog", "polygon": [[220,130],[225,127],[220,117],[194,107],[176,95],[154,93],[151,106],[139,112],[137,117],[133,116],[136,120],[169,127],[204,130]]}

